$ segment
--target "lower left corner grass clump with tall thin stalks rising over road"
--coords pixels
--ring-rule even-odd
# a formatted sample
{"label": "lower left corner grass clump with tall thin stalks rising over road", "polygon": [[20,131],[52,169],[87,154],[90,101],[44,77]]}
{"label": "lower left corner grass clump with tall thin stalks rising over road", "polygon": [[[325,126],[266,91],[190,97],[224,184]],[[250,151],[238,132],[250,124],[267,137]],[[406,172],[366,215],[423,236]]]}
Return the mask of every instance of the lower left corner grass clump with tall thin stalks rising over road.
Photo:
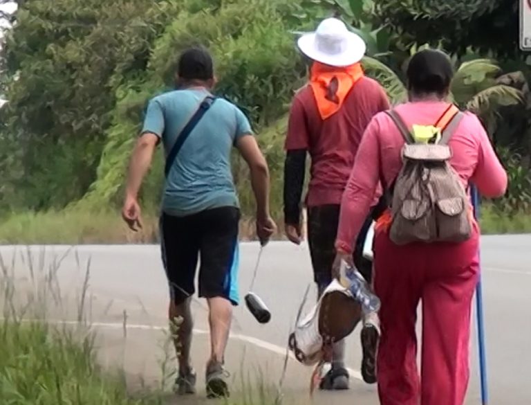
{"label": "lower left corner grass clump with tall thin stalks rising over road", "polygon": [[[97,365],[96,336],[85,321],[90,263],[77,302],[65,307],[56,278],[62,260],[44,264],[44,251],[38,260],[29,250],[20,253],[10,264],[0,255],[0,404],[161,404],[156,395],[133,399],[118,367],[111,373]],[[67,309],[79,322],[46,322],[50,312]]]}

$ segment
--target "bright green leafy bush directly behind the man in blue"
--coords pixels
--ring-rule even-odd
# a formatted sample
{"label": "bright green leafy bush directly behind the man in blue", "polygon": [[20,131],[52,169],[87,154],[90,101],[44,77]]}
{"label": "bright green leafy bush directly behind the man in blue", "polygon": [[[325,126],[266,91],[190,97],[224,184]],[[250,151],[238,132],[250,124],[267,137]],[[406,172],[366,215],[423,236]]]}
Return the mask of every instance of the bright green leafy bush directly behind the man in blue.
{"label": "bright green leafy bush directly behind the man in blue", "polygon": [[[304,75],[304,65],[297,57],[289,30],[282,9],[270,0],[253,0],[252,6],[245,8],[241,2],[226,3],[215,10],[185,10],[176,15],[154,42],[145,77],[136,84],[120,87],[97,180],[81,204],[95,206],[121,199],[127,159],[133,136],[139,130],[142,108],[149,97],[171,87],[176,57],[187,46],[201,44],[210,48],[219,80],[216,93],[239,105],[255,129],[274,123],[286,112],[293,89],[299,87]],[[263,137],[259,134],[259,138]],[[145,200],[152,204],[160,195],[161,159],[159,156],[144,188]],[[247,186],[245,168],[239,161],[235,163],[236,183]],[[242,204],[249,212],[252,201],[243,197]]]}

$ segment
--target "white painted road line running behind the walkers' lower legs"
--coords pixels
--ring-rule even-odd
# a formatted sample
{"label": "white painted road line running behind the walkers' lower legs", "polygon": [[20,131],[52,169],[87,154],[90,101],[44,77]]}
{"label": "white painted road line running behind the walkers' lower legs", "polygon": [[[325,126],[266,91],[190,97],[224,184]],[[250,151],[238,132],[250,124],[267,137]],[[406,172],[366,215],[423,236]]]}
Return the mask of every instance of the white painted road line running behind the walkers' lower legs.
{"label": "white painted road line running behind the walkers' lower legs", "polygon": [[[62,325],[77,325],[77,321],[59,321],[57,323],[60,323]],[[89,324],[91,327],[100,327],[100,328],[106,328],[106,329],[123,329],[124,324],[123,323],[106,323],[106,322],[92,322]],[[141,325],[141,324],[134,324],[129,323],[126,325],[127,329],[131,330],[166,330],[166,327],[163,326],[154,326],[154,325]],[[209,334],[207,330],[202,329],[194,329],[195,334]],[[279,356],[286,356],[286,348],[282,348],[279,345],[274,345],[273,343],[269,343],[266,341],[263,341],[261,339],[254,338],[252,336],[246,336],[244,334],[230,334],[230,338],[234,339],[236,341],[241,341],[243,343],[249,343],[250,345],[256,346],[257,348],[261,348],[263,350],[267,350],[268,352],[272,352],[274,354],[278,354]],[[290,352],[289,354],[290,359],[296,360],[295,356]],[[351,377],[355,379],[359,379],[360,381],[363,381],[362,375],[359,371],[353,370],[352,368],[347,368],[348,374],[351,375]]]}

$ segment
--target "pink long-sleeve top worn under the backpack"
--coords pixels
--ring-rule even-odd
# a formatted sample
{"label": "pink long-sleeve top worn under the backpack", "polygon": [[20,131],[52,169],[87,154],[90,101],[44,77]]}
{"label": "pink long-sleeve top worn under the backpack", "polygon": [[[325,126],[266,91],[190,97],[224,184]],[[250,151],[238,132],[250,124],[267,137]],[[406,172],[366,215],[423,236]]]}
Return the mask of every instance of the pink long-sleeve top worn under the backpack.
{"label": "pink long-sleeve top worn under the backpack", "polygon": [[[398,105],[395,111],[411,129],[413,124],[434,125],[447,107],[446,102],[420,101]],[[351,253],[378,194],[379,182],[386,185],[393,183],[402,168],[403,145],[404,139],[391,118],[384,113],[375,115],[362,137],[343,194],[336,249]],[[449,146],[452,152],[450,164],[465,186],[474,183],[485,197],[500,197],[505,193],[507,173],[483,125],[474,114],[465,113]]]}

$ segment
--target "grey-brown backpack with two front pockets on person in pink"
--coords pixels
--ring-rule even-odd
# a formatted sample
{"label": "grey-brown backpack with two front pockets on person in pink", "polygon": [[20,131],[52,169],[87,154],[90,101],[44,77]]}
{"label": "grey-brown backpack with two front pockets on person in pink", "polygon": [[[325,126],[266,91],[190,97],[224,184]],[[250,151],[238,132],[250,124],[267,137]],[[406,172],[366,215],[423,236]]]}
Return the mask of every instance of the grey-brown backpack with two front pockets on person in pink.
{"label": "grey-brown backpack with two front pockets on person in pink", "polygon": [[448,142],[463,118],[456,111],[440,141],[427,144],[415,143],[396,111],[387,111],[406,141],[392,190],[389,237],[395,244],[463,242],[472,235],[467,191],[449,164]]}

